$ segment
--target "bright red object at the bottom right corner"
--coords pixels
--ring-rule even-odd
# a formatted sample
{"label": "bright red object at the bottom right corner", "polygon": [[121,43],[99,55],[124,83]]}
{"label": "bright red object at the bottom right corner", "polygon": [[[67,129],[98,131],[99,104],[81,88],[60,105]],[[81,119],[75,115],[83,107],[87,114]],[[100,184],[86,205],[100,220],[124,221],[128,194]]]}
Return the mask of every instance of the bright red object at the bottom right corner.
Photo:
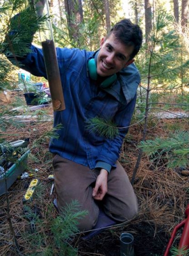
{"label": "bright red object at the bottom right corner", "polygon": [[177,226],[175,226],[173,230],[173,234],[171,235],[171,239],[167,245],[166,251],[163,254],[163,256],[168,256],[169,255],[169,250],[171,245],[173,244],[173,240],[175,237],[175,234],[177,233],[177,230],[184,226],[182,236],[180,237],[180,242],[179,242],[179,248],[184,248],[184,250],[189,249],[189,204],[187,205],[186,211],[185,211],[186,219],[180,222]]}

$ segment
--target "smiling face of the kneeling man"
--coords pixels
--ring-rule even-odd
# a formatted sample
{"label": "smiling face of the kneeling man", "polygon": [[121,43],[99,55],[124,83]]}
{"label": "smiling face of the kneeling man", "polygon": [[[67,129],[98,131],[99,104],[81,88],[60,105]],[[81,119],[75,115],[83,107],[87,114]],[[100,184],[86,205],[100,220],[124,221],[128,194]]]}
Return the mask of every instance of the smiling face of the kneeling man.
{"label": "smiling face of the kneeling man", "polygon": [[125,46],[111,34],[100,42],[100,51],[97,59],[97,73],[99,76],[111,76],[127,67],[133,60],[129,60],[133,46]]}

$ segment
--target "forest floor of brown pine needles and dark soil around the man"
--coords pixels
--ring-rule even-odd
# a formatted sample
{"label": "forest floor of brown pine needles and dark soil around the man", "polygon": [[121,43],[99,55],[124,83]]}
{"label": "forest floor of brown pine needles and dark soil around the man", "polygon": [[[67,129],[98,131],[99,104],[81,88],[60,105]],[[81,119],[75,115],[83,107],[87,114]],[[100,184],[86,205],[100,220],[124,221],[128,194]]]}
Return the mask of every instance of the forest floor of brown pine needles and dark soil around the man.
{"label": "forest floor of brown pine needles and dark soil around the man", "polygon": [[[25,122],[25,127],[20,128],[9,126],[1,134],[2,139],[6,139],[7,142],[30,138],[29,147],[32,157],[28,158],[26,171],[35,173],[37,179],[43,184],[40,197],[31,203],[31,206],[37,204],[37,211],[40,212],[40,221],[43,224],[43,228],[37,230],[35,236],[31,234],[30,223],[23,217],[22,203],[32,177],[17,179],[9,188],[9,193],[0,196],[1,256],[43,255],[45,245],[49,245],[52,241],[47,225],[48,207],[56,198],[55,191],[50,195],[52,181],[48,180],[48,175],[53,174],[47,135],[52,129],[52,107],[46,110],[49,114],[45,114],[45,116],[50,117],[50,120],[40,121],[41,119],[39,119],[37,122],[32,120]],[[26,110],[22,109],[22,111],[26,114]],[[40,117],[44,113],[38,112],[37,115]],[[152,117],[149,120],[147,139],[159,136],[166,138],[174,131],[188,131],[188,128],[188,118],[159,119]],[[142,133],[142,123],[132,126],[121,150],[119,160],[130,180],[138,156],[137,144],[142,138]],[[33,171],[36,169],[38,171]],[[77,248],[79,256],[119,256],[120,234],[128,232],[134,237],[136,256],[162,256],[173,228],[184,219],[184,212],[189,201],[188,181],[189,176],[182,170],[168,168],[166,159],[153,160],[143,154],[133,185],[138,199],[138,215],[124,225],[112,226],[104,230],[91,240],[83,240],[83,234],[77,234],[69,243]],[[56,209],[51,209],[51,217],[55,218],[56,216]],[[10,220],[12,228],[10,228]],[[30,238],[26,236],[27,233],[30,233]],[[39,235],[42,233],[48,234],[48,236],[45,236],[45,241],[39,245]],[[181,233],[182,230],[175,238],[175,246],[178,245]],[[32,254],[35,250],[39,251],[39,254]],[[62,254],[54,253],[55,255]]]}

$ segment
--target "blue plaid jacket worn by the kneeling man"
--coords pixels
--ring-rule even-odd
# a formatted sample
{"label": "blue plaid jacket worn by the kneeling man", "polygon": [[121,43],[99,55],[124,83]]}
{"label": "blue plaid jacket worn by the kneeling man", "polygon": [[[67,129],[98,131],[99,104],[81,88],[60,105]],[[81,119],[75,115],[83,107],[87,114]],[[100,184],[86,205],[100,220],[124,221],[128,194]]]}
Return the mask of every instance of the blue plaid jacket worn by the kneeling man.
{"label": "blue plaid jacket worn by the kneeling man", "polygon": [[[110,172],[128,132],[140,75],[135,64],[131,64],[117,74],[118,78],[110,88],[102,89],[87,72],[87,61],[95,54],[98,52],[57,48],[66,109],[54,112],[54,127],[61,124],[62,129],[57,130],[58,139],[51,139],[49,150],[91,169],[105,168]],[[32,52],[22,64],[32,75],[47,79],[41,49],[32,46]],[[119,135],[107,139],[92,133],[86,122],[94,117],[114,121],[119,127]]]}

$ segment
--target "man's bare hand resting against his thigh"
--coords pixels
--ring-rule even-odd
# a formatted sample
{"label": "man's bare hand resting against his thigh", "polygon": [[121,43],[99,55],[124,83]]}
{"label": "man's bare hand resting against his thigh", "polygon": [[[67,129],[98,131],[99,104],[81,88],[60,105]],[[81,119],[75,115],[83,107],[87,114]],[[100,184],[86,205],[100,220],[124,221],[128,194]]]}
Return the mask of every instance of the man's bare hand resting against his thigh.
{"label": "man's bare hand resting against his thigh", "polygon": [[93,189],[93,197],[95,200],[102,200],[108,191],[108,172],[101,169],[100,174],[96,179],[96,184]]}

